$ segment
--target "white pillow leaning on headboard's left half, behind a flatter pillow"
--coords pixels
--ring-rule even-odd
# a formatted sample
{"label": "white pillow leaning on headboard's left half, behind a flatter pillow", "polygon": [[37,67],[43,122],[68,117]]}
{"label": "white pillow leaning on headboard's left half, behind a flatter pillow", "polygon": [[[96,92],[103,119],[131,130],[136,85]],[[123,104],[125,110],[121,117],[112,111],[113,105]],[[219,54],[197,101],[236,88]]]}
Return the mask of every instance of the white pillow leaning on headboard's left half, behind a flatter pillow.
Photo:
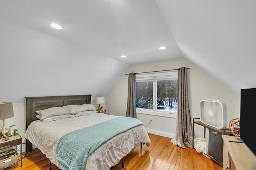
{"label": "white pillow leaning on headboard's left half, behind a flatter pillow", "polygon": [[51,116],[70,114],[70,111],[66,107],[50,107],[48,109],[37,110],[36,113],[41,115],[41,119],[45,119]]}

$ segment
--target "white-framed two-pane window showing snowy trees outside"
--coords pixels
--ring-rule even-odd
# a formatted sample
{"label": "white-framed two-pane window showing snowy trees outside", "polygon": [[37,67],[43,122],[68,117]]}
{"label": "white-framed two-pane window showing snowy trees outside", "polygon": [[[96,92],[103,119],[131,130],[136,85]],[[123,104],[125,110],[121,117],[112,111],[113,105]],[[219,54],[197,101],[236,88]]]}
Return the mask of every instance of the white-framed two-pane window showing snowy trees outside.
{"label": "white-framed two-pane window showing snowy trees outside", "polygon": [[178,108],[178,72],[136,75],[136,112],[175,117]]}

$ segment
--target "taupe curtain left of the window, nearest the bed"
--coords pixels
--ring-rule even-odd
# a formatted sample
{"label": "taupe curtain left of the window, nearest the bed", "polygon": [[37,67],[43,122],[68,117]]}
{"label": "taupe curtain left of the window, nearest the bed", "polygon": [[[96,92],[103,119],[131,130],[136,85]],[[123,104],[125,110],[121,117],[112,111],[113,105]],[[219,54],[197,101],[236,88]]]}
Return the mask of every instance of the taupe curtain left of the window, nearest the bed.
{"label": "taupe curtain left of the window, nearest the bed", "polygon": [[137,118],[136,103],[135,103],[135,83],[136,83],[135,73],[131,72],[129,73],[129,78],[128,78],[128,98],[127,98],[126,117]]}

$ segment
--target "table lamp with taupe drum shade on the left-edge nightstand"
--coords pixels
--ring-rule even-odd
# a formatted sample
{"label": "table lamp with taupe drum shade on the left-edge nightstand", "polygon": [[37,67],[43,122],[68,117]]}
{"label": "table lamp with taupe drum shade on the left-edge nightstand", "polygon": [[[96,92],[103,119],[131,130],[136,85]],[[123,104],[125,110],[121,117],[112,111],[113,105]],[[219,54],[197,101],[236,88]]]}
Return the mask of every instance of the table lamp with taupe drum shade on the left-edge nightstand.
{"label": "table lamp with taupe drum shade on the left-edge nightstand", "polygon": [[14,117],[12,102],[0,103],[0,119],[3,120],[3,127],[0,129],[0,135],[7,135],[10,131],[5,128],[4,120]]}

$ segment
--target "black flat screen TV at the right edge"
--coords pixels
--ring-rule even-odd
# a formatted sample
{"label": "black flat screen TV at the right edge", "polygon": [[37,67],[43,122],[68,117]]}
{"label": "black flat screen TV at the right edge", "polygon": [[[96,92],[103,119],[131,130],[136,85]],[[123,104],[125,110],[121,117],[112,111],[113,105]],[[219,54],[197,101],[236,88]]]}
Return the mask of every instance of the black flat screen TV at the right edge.
{"label": "black flat screen TV at the right edge", "polygon": [[256,156],[255,124],[256,88],[241,89],[240,139]]}

